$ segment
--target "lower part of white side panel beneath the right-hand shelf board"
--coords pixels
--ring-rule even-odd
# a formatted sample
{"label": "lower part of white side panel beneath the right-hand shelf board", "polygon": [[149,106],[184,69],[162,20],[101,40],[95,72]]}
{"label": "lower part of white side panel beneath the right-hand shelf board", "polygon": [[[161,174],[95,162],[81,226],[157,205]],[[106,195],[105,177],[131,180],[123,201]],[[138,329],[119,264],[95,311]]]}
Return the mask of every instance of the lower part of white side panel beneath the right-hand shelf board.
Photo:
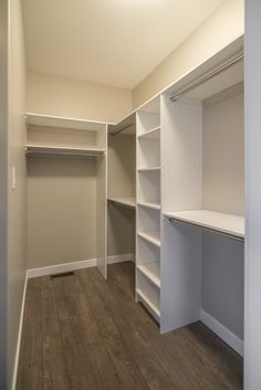
{"label": "lower part of white side panel beneath the right-hand shelf board", "polygon": [[202,233],[164,219],[161,223],[160,331],[199,319]]}

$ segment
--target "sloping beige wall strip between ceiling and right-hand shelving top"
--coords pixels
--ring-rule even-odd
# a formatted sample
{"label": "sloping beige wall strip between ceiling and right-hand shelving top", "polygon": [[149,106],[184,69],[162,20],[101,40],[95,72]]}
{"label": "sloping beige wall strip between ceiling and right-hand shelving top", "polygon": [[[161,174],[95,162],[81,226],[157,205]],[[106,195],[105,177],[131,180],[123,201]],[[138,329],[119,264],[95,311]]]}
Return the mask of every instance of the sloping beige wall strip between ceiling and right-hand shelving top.
{"label": "sloping beige wall strip between ceiling and right-hand shelving top", "polygon": [[[136,108],[244,32],[243,0],[228,0],[133,89]],[[175,31],[175,27],[174,27]]]}

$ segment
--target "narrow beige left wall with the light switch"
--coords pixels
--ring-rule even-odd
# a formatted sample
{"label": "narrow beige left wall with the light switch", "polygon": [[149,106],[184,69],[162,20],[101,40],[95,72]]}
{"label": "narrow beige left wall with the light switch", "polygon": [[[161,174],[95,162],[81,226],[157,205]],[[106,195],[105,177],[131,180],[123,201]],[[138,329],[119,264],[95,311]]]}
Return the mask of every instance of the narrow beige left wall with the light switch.
{"label": "narrow beige left wall with the light switch", "polygon": [[[27,270],[27,167],[25,123],[27,73],[20,0],[10,1],[9,56],[9,178],[15,168],[17,188],[9,182],[9,256],[8,256],[8,349],[9,386],[14,367],[24,276]],[[11,181],[11,180],[10,180]]]}

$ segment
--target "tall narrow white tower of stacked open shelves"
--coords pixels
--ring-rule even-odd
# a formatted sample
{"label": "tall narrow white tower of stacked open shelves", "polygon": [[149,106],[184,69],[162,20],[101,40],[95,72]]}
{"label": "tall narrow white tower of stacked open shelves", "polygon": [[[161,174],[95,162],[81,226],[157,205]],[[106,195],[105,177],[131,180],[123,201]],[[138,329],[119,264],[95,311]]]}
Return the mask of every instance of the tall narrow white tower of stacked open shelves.
{"label": "tall narrow white tower of stacked open shelves", "polygon": [[160,322],[160,101],[137,112],[136,299]]}

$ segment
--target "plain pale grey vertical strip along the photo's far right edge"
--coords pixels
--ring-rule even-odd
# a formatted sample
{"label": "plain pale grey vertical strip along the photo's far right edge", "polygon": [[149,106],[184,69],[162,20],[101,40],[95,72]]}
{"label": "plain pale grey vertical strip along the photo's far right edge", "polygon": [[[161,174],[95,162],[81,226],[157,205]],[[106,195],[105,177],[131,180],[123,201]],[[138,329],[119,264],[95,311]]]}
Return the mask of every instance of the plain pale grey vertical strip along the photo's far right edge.
{"label": "plain pale grey vertical strip along the photo's far right edge", "polygon": [[261,389],[261,2],[246,1],[246,345],[244,389]]}

